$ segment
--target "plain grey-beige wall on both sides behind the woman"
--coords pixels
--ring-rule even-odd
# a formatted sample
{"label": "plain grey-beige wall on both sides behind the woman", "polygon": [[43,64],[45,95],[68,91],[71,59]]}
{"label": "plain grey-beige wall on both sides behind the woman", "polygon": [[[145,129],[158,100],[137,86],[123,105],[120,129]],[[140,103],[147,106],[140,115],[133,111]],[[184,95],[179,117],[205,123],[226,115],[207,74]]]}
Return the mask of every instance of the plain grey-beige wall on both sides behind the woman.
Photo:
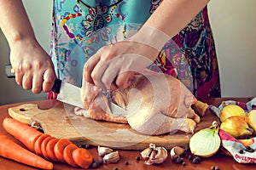
{"label": "plain grey-beige wall on both sides behind the woman", "polygon": [[[49,51],[52,0],[23,0],[38,42]],[[209,15],[216,42],[223,97],[256,96],[256,1],[212,0]],[[8,79],[9,45],[0,30],[0,105],[45,99]]]}

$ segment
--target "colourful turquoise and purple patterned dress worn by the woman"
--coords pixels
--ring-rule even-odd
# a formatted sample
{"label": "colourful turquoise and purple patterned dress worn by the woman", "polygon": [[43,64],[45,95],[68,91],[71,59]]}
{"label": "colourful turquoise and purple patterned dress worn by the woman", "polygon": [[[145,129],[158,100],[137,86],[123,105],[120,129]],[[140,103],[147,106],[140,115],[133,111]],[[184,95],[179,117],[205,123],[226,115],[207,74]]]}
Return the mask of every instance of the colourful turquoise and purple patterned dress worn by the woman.
{"label": "colourful turquoise and purple patterned dress worn by the woman", "polygon": [[[131,37],[161,0],[53,2],[50,56],[55,72],[62,80],[81,86],[86,60],[102,46]],[[218,62],[207,7],[170,38],[149,68],[179,78],[196,97],[220,97]],[[55,97],[49,93],[49,99]]]}

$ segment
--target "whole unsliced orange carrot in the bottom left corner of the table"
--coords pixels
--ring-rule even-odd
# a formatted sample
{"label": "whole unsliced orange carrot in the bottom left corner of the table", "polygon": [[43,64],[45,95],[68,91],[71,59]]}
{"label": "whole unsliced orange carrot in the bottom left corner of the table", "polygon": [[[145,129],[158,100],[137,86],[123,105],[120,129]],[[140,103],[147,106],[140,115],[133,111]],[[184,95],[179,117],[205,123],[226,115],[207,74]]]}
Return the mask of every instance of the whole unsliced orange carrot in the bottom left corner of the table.
{"label": "whole unsliced orange carrot in the bottom left corner of the table", "polygon": [[0,141],[0,156],[40,169],[53,169],[51,162],[16,144],[3,133],[0,133]]}

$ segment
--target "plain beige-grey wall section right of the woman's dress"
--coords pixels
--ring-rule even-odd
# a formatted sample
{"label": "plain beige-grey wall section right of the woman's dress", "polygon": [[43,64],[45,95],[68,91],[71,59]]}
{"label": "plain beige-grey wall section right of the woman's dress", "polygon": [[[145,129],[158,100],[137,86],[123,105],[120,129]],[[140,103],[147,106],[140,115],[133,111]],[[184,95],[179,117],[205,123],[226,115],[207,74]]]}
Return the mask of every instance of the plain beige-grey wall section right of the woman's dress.
{"label": "plain beige-grey wall section right of the woman's dress", "polygon": [[212,0],[222,96],[256,96],[256,1]]}

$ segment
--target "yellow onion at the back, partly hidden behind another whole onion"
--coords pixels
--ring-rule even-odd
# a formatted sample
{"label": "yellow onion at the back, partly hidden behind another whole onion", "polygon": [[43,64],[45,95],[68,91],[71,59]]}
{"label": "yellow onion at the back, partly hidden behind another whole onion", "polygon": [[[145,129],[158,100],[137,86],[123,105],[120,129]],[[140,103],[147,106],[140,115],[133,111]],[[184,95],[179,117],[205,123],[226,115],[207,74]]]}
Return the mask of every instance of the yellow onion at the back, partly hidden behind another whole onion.
{"label": "yellow onion at the back, partly hidden behind another whole onion", "polygon": [[224,122],[225,119],[231,116],[241,116],[245,119],[247,116],[245,111],[238,105],[226,105],[220,112],[220,121]]}

